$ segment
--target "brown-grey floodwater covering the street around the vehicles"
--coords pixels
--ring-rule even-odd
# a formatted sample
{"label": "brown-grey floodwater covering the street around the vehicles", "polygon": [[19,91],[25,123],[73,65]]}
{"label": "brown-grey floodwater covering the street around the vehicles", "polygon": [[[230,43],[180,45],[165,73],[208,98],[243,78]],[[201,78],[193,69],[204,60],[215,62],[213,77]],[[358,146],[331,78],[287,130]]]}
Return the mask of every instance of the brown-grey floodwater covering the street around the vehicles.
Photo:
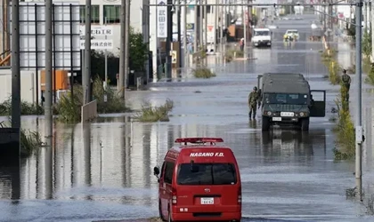
{"label": "brown-grey floodwater covering the street around the vehicles", "polygon": [[[128,116],[107,115],[97,123],[56,124],[53,150],[42,148],[22,160],[20,173],[0,166],[0,221],[155,217],[158,183],[152,169],[179,137],[221,137],[232,147],[240,164],[243,221],[372,221],[362,204],[346,200],[346,189],[354,187],[354,163],[333,161],[334,123],[329,119],[335,115],[330,109],[338,89],[324,77],[321,43],[305,41],[308,22],[280,21],[272,49],[250,49],[254,60],[212,65],[215,78],[183,75],[152,83],[150,91],[128,92],[134,108],[172,99],[168,123],[132,123]],[[284,44],[287,28],[297,28],[301,40]],[[262,133],[259,116],[248,121],[248,92],[256,76],[278,71],[302,73],[313,89],[327,91],[327,116],[313,118],[308,133]],[[365,90],[363,95],[371,94]],[[366,100],[363,184],[367,194],[374,194],[373,112],[371,99]],[[43,117],[25,116],[22,124],[43,134]]]}

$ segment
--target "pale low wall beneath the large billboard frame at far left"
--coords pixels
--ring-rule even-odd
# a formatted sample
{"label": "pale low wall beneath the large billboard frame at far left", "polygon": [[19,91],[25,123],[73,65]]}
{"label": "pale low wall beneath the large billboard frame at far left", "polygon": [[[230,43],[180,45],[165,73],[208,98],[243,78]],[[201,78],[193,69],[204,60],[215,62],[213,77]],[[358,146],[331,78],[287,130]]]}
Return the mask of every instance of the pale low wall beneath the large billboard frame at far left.
{"label": "pale low wall beneath the large billboard frame at far left", "polygon": [[[29,103],[37,102],[37,85],[35,71],[20,71],[20,98]],[[39,78],[40,89],[40,78]],[[0,102],[8,99],[12,95],[12,71],[10,69],[0,69]],[[39,93],[40,97],[40,93]],[[40,99],[39,99],[40,101]]]}

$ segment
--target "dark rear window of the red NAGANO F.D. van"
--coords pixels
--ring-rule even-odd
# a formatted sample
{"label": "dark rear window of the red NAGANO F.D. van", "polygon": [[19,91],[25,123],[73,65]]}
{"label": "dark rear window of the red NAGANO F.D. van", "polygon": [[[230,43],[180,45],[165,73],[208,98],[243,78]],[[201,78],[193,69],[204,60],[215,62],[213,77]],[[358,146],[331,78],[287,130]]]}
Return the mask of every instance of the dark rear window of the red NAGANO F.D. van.
{"label": "dark rear window of the red NAGANO F.D. van", "polygon": [[178,185],[234,185],[236,170],[232,163],[183,163],[179,165]]}

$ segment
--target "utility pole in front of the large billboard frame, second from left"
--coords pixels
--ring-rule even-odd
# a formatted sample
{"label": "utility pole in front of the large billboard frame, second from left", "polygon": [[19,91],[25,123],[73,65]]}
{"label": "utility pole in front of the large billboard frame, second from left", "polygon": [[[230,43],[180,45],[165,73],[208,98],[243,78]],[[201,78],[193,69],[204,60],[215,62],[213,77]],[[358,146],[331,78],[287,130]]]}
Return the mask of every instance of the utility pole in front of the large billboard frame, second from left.
{"label": "utility pole in front of the large billboard frame, second from left", "polygon": [[[53,114],[52,114],[52,1],[45,1],[45,142],[52,146]],[[72,75],[72,74],[71,74]]]}

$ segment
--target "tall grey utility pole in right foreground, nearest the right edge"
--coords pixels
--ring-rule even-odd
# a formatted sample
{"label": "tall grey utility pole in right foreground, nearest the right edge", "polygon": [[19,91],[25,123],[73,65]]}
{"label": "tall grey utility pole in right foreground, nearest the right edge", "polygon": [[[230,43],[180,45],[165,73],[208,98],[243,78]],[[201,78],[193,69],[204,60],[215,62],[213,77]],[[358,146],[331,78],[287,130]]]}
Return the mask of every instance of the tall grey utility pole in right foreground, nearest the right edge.
{"label": "tall grey utility pole in right foreground, nearest the right edge", "polygon": [[355,180],[356,188],[362,200],[362,0],[356,2],[356,92],[357,92],[357,109],[356,109],[356,158],[355,158]]}

